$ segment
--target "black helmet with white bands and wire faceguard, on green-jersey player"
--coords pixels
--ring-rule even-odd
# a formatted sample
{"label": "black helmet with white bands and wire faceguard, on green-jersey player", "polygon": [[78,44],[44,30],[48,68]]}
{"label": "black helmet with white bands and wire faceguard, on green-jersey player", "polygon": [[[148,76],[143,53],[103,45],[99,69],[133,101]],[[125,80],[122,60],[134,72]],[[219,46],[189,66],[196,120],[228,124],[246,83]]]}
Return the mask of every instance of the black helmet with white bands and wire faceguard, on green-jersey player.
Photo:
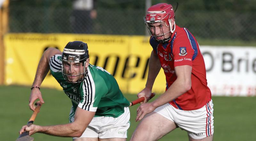
{"label": "black helmet with white bands and wire faceguard, on green-jersey player", "polygon": [[[73,84],[83,82],[87,74],[87,68],[85,67],[85,63],[89,58],[87,44],[81,41],[69,42],[65,46],[61,58],[62,58],[61,72],[64,79],[67,82],[73,83]],[[81,68],[81,64],[83,68]],[[64,65],[65,67],[63,67]],[[73,68],[72,66],[76,67],[76,71],[72,70]],[[77,73],[72,74],[72,72],[77,72]]]}

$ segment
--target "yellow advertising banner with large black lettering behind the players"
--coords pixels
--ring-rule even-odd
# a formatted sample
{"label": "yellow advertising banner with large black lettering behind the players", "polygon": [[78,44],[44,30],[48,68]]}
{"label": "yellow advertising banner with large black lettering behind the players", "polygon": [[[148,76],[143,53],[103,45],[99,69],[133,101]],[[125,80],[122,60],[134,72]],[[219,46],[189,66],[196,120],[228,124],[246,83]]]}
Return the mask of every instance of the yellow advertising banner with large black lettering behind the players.
{"label": "yellow advertising banner with large black lettering behind the players", "polygon": [[[149,37],[92,34],[7,34],[5,44],[5,84],[32,85],[38,62],[49,47],[60,51],[69,41],[88,44],[90,63],[110,72],[123,93],[136,94],[146,84],[152,47]],[[41,87],[62,89],[50,73]],[[153,92],[165,91],[163,70],[158,74]]]}

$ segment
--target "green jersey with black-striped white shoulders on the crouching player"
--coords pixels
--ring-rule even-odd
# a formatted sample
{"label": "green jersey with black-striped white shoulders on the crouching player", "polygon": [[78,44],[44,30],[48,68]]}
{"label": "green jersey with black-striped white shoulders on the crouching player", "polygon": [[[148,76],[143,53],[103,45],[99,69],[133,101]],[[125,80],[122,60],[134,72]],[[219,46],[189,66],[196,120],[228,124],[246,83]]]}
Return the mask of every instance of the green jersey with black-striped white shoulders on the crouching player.
{"label": "green jersey with black-striped white shoulders on the crouching player", "polygon": [[129,107],[130,102],[122,94],[116,79],[102,67],[89,64],[85,80],[72,84],[65,81],[61,73],[61,55],[52,56],[49,64],[52,76],[71,99],[73,111],[78,106],[96,112],[95,117],[118,117],[124,113],[124,107]]}

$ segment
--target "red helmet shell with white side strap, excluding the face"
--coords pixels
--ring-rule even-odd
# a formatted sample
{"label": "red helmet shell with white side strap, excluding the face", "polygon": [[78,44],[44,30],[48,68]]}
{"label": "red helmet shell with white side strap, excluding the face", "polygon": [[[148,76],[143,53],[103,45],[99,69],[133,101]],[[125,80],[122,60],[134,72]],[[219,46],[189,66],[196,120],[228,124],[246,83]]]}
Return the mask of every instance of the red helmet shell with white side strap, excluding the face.
{"label": "red helmet shell with white side strap, excluding the face", "polygon": [[[175,30],[175,23],[174,23],[174,29],[172,30],[172,25],[171,25],[171,19],[174,18],[174,10],[172,8],[171,4],[166,4],[166,3],[160,3],[153,5],[148,8],[146,17],[144,17],[145,24],[148,27],[148,31],[151,34],[151,36],[156,36],[153,35],[152,32],[150,31],[150,26],[148,24],[152,23],[158,23],[158,22],[164,22],[167,27],[170,28],[171,33],[174,32]],[[170,26],[171,25],[171,26]],[[166,33],[164,33],[166,34]],[[163,34],[163,35],[164,35]],[[165,39],[163,42],[168,41],[170,39]]]}

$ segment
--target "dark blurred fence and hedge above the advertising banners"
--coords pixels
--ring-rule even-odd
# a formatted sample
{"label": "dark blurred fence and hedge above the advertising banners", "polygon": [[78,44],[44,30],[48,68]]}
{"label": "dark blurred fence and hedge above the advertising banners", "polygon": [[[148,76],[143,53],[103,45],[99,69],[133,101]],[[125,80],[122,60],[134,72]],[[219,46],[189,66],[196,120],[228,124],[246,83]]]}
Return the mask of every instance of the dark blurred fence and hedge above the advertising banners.
{"label": "dark blurred fence and hedge above the advertising banners", "polygon": [[[9,32],[145,35],[145,0],[94,0],[97,16],[70,0],[10,0]],[[152,0],[176,7],[176,24],[197,38],[254,41],[255,0]]]}

